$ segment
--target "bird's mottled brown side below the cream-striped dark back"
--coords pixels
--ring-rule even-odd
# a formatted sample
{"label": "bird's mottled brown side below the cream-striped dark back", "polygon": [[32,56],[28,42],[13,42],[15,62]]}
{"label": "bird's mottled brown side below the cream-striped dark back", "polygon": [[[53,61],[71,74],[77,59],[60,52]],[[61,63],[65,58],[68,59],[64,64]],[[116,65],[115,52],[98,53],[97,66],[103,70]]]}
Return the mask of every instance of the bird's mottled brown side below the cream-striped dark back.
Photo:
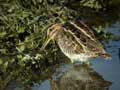
{"label": "bird's mottled brown side below the cream-striped dark back", "polygon": [[81,54],[84,53],[83,46],[76,41],[74,35],[72,35],[69,30],[63,28],[57,36],[57,43],[60,48],[64,49],[64,52],[73,53],[73,54]]}

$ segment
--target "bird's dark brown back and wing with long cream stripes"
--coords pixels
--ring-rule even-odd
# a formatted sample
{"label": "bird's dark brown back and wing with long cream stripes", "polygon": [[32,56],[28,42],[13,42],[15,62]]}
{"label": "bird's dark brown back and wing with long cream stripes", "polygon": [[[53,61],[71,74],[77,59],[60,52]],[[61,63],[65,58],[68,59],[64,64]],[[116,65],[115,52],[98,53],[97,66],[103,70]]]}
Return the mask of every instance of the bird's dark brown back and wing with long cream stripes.
{"label": "bird's dark brown back and wing with long cream stripes", "polygon": [[103,49],[101,43],[95,38],[93,31],[83,22],[70,22],[66,31],[71,34],[86,51],[100,51]]}

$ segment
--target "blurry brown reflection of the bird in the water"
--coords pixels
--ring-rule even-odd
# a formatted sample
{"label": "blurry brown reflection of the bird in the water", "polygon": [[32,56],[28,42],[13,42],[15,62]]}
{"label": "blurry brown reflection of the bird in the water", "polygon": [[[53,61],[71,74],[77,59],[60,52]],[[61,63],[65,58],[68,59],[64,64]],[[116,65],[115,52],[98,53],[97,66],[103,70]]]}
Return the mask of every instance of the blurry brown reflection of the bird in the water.
{"label": "blurry brown reflection of the bird in the water", "polygon": [[63,67],[50,79],[51,90],[108,90],[111,85],[89,66],[79,65],[70,69],[65,65],[66,70]]}

